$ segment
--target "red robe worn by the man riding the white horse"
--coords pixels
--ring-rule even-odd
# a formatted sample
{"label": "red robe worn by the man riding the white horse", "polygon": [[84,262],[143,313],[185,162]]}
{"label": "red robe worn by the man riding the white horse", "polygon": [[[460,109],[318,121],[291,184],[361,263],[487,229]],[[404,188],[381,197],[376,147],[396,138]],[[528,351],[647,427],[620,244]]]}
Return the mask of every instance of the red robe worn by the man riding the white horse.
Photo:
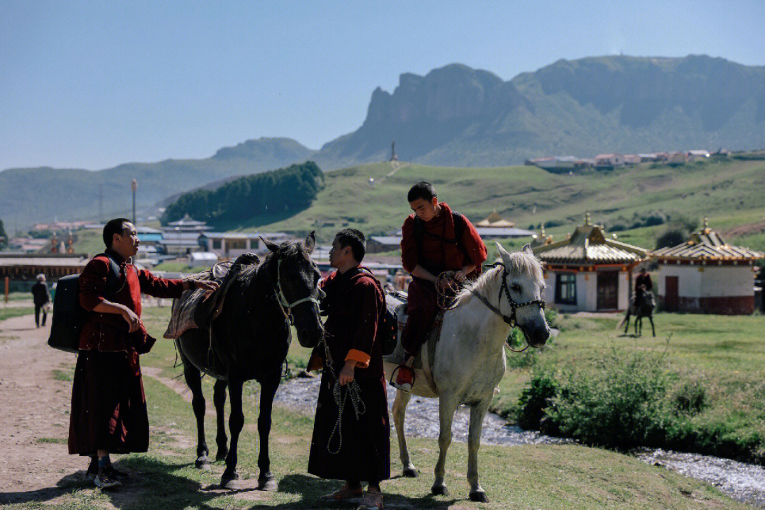
{"label": "red robe worn by the man riding the white horse", "polygon": [[[457,271],[467,264],[476,268],[468,278],[477,277],[481,265],[486,261],[487,251],[483,241],[470,220],[462,216],[464,229],[457,243],[444,242],[455,238],[454,216],[448,204],[441,202],[441,213],[429,222],[425,222],[425,235],[422,236],[421,248],[415,239],[415,215],[410,214],[402,226],[401,261],[405,271],[410,273],[417,265],[438,276],[443,271]],[[427,280],[413,277],[409,284],[407,313],[409,319],[402,332],[402,346],[409,355],[416,356],[425,335],[431,327],[438,311],[435,286]]]}

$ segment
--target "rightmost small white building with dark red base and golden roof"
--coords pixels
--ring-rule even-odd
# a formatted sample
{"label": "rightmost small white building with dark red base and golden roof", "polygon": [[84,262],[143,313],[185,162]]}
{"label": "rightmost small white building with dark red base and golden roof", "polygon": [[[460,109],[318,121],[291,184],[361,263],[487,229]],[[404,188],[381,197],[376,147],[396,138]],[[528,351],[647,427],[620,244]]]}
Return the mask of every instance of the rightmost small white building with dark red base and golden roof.
{"label": "rightmost small white building with dark red base and golden roof", "polygon": [[754,312],[754,261],[765,253],[729,245],[704,227],[677,246],[651,253],[666,311],[741,315]]}

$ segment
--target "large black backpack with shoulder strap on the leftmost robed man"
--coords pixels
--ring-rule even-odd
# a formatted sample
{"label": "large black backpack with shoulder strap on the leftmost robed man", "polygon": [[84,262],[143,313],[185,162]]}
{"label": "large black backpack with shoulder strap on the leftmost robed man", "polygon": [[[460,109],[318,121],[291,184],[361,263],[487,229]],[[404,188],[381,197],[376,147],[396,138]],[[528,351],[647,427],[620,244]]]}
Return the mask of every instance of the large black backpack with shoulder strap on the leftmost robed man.
{"label": "large black backpack with shoulder strap on the leftmost robed man", "polygon": [[[106,257],[109,258],[109,274],[106,275],[104,297],[122,291],[122,287],[117,288],[119,265],[109,255]],[[127,278],[125,278],[126,282]],[[87,310],[80,306],[80,275],[70,274],[60,278],[53,301],[53,320],[50,323],[48,345],[66,352],[77,352],[80,346],[80,333],[87,317]]]}

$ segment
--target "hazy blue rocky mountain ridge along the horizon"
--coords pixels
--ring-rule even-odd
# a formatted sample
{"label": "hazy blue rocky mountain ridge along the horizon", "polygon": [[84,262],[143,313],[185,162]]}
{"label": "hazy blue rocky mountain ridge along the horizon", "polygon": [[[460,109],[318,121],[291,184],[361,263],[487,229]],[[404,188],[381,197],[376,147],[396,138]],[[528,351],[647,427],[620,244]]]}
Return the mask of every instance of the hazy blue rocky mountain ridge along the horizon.
{"label": "hazy blue rocky mountain ridge along the horizon", "polygon": [[[100,171],[14,168],[0,172],[0,218],[31,224],[129,212],[129,181],[147,210],[179,192],[306,160],[324,170],[386,161],[497,167],[545,155],[691,148],[757,148],[765,141],[765,67],[720,57],[585,57],[502,80],[453,63],[402,73],[377,87],[355,131],[314,150],[291,138],[257,138],[197,160],[121,164]],[[99,192],[99,189],[101,190]],[[41,201],[37,197],[55,196]],[[91,200],[83,200],[83,196]]]}

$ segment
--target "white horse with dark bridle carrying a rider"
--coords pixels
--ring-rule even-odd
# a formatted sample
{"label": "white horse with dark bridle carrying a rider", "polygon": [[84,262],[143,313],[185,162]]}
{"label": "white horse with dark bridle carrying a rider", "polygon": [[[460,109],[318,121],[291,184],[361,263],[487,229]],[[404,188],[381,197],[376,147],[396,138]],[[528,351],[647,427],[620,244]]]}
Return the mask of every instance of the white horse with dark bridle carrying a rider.
{"label": "white horse with dark bridle carrying a rider", "polygon": [[[508,253],[496,243],[502,264],[487,271],[457,295],[457,307],[444,313],[441,337],[436,343],[432,380],[438,393],[419,372],[414,395],[439,398],[438,463],[431,492],[447,495],[444,484],[446,452],[451,443],[451,423],[460,404],[470,405],[470,431],[467,437],[467,482],[470,500],[487,502],[478,482],[478,448],[483,417],[489,410],[494,389],[505,373],[505,341],[512,326],[518,326],[530,346],[542,346],[550,336],[545,320],[542,291],[545,287],[542,266],[529,245],[520,252]],[[428,349],[427,343],[423,349]],[[396,364],[385,363],[386,373]],[[393,421],[399,437],[404,476],[417,476],[409,459],[404,437],[404,415],[412,393],[397,391]]]}

